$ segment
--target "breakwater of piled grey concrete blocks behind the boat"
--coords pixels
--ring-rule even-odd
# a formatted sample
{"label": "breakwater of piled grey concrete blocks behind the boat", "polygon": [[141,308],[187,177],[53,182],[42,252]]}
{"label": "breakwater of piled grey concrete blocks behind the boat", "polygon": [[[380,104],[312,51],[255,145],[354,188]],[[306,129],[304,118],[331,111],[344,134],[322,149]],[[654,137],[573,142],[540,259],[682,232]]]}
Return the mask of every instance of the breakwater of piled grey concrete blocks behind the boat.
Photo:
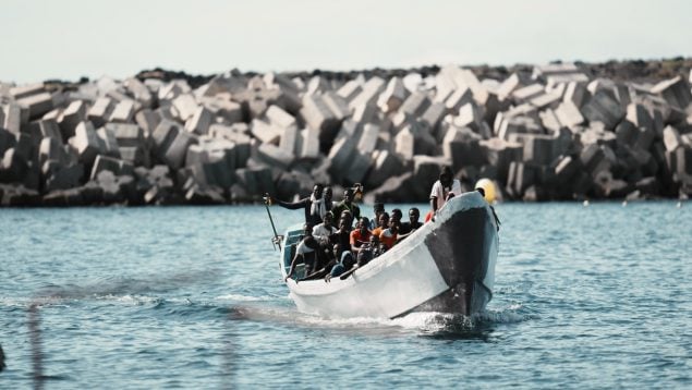
{"label": "breakwater of piled grey concrete blocks behind the boat", "polygon": [[0,82],[2,206],[687,198],[692,60]]}

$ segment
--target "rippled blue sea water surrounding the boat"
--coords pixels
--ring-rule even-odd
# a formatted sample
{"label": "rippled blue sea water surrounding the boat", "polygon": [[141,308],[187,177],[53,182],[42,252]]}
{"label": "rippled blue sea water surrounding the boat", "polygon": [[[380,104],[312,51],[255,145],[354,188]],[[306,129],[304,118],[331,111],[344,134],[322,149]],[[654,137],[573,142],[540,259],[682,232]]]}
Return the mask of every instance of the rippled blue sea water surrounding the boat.
{"label": "rippled blue sea water surrounding the boat", "polygon": [[692,388],[692,204],[496,210],[486,313],[330,320],[264,206],[0,209],[0,388]]}

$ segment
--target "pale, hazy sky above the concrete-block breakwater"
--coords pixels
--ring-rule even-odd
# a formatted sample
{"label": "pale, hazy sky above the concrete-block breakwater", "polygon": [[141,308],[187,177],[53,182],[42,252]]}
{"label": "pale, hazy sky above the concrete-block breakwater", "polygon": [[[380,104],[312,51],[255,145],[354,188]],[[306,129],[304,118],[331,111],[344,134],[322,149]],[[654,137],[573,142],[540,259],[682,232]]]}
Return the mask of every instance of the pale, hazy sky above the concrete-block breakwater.
{"label": "pale, hazy sky above the concrete-block breakwater", "polygon": [[2,0],[0,81],[692,57],[689,0]]}

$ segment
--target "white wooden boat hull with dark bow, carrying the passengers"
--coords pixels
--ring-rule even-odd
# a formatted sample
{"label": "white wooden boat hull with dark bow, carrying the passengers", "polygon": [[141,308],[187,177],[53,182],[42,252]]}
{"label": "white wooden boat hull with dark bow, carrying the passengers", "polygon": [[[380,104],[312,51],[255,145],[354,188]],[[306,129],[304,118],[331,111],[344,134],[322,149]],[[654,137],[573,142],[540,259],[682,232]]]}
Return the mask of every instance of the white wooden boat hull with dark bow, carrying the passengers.
{"label": "white wooden boat hull with dark bow, carrying the passengers", "polygon": [[[286,278],[302,224],[280,239]],[[472,315],[493,297],[499,241],[495,214],[477,192],[453,197],[425,223],[351,277],[300,280],[287,285],[298,309],[328,318],[394,318],[412,312]]]}

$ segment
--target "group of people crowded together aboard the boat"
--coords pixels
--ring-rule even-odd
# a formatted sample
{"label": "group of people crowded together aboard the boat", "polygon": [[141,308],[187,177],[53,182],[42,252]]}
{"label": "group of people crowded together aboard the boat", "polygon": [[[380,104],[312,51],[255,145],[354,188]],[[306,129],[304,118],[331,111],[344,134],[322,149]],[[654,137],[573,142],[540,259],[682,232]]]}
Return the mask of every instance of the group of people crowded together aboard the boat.
{"label": "group of people crowded together aboard the boat", "polygon": [[[361,209],[355,204],[355,197],[362,196],[362,193],[363,186],[356,184],[344,190],[343,199],[337,203],[332,199],[331,187],[317,183],[308,197],[298,202],[266,197],[269,205],[303,209],[305,212],[303,239],[296,245],[284,281],[293,276],[296,265],[301,263],[305,271],[300,280],[324,278],[329,282],[333,277],[345,279],[355,269],[391,249],[423,226],[416,207],[409,209],[408,221],[402,221],[401,209],[394,208],[387,212],[383,203],[374,205],[375,218],[362,217]],[[453,179],[449,167],[442,168],[439,180],[433,184],[430,191],[432,210],[425,221],[434,220],[445,203],[459,194],[459,180]]]}

